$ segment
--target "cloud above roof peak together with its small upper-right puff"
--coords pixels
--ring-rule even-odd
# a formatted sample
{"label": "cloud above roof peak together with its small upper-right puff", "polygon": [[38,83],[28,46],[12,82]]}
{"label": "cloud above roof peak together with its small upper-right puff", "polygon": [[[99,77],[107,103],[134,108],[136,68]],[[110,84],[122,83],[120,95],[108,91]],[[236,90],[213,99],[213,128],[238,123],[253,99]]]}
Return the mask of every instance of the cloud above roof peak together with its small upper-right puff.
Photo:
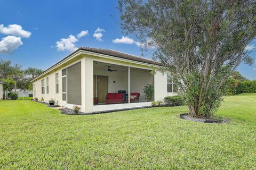
{"label": "cloud above roof peak together with its small upper-right puff", "polygon": [[68,50],[69,52],[74,52],[77,50],[76,42],[79,41],[80,38],[88,35],[88,30],[81,31],[75,36],[69,35],[68,38],[61,38],[59,41],[56,42],[56,46],[58,51]]}

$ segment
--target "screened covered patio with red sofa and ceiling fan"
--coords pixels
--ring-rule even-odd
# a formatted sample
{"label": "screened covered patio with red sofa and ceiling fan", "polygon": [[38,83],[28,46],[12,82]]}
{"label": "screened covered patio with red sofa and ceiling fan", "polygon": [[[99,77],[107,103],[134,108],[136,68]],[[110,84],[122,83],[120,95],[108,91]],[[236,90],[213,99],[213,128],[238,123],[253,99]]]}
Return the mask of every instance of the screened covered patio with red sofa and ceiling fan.
{"label": "screened covered patio with red sofa and ceiling fan", "polygon": [[151,70],[93,61],[93,112],[150,106],[148,84],[154,86]]}

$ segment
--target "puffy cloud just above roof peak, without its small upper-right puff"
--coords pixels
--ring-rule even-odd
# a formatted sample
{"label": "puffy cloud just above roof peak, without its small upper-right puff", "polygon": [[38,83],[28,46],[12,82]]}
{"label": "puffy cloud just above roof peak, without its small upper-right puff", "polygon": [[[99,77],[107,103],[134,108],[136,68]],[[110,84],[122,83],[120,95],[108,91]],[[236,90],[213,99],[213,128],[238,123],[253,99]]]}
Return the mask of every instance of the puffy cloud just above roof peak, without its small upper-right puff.
{"label": "puffy cloud just above roof peak, without its small upper-right puff", "polygon": [[63,50],[68,50],[70,52],[74,52],[77,47],[76,47],[76,42],[78,39],[70,35],[69,38],[61,38],[59,41],[56,43],[56,47],[58,51],[63,51]]}

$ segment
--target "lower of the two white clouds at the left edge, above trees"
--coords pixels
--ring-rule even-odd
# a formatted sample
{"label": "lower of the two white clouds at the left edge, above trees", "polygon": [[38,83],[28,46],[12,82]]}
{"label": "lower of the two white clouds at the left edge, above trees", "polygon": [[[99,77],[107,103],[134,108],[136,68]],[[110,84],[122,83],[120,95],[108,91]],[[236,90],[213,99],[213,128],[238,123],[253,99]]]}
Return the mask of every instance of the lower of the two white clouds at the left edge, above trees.
{"label": "lower of the two white clouds at the left edge, above trees", "polygon": [[20,37],[7,36],[0,41],[0,54],[10,54],[23,45]]}

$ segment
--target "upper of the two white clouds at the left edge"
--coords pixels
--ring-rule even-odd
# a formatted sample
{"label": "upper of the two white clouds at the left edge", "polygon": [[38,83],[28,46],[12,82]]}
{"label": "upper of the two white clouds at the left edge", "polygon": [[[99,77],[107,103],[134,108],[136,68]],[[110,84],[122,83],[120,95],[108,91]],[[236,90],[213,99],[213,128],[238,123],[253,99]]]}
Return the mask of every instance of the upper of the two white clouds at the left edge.
{"label": "upper of the two white clouds at the left edge", "polygon": [[21,25],[17,24],[8,25],[8,27],[4,27],[4,24],[0,24],[0,33],[23,38],[29,38],[31,35],[31,32],[23,30]]}

